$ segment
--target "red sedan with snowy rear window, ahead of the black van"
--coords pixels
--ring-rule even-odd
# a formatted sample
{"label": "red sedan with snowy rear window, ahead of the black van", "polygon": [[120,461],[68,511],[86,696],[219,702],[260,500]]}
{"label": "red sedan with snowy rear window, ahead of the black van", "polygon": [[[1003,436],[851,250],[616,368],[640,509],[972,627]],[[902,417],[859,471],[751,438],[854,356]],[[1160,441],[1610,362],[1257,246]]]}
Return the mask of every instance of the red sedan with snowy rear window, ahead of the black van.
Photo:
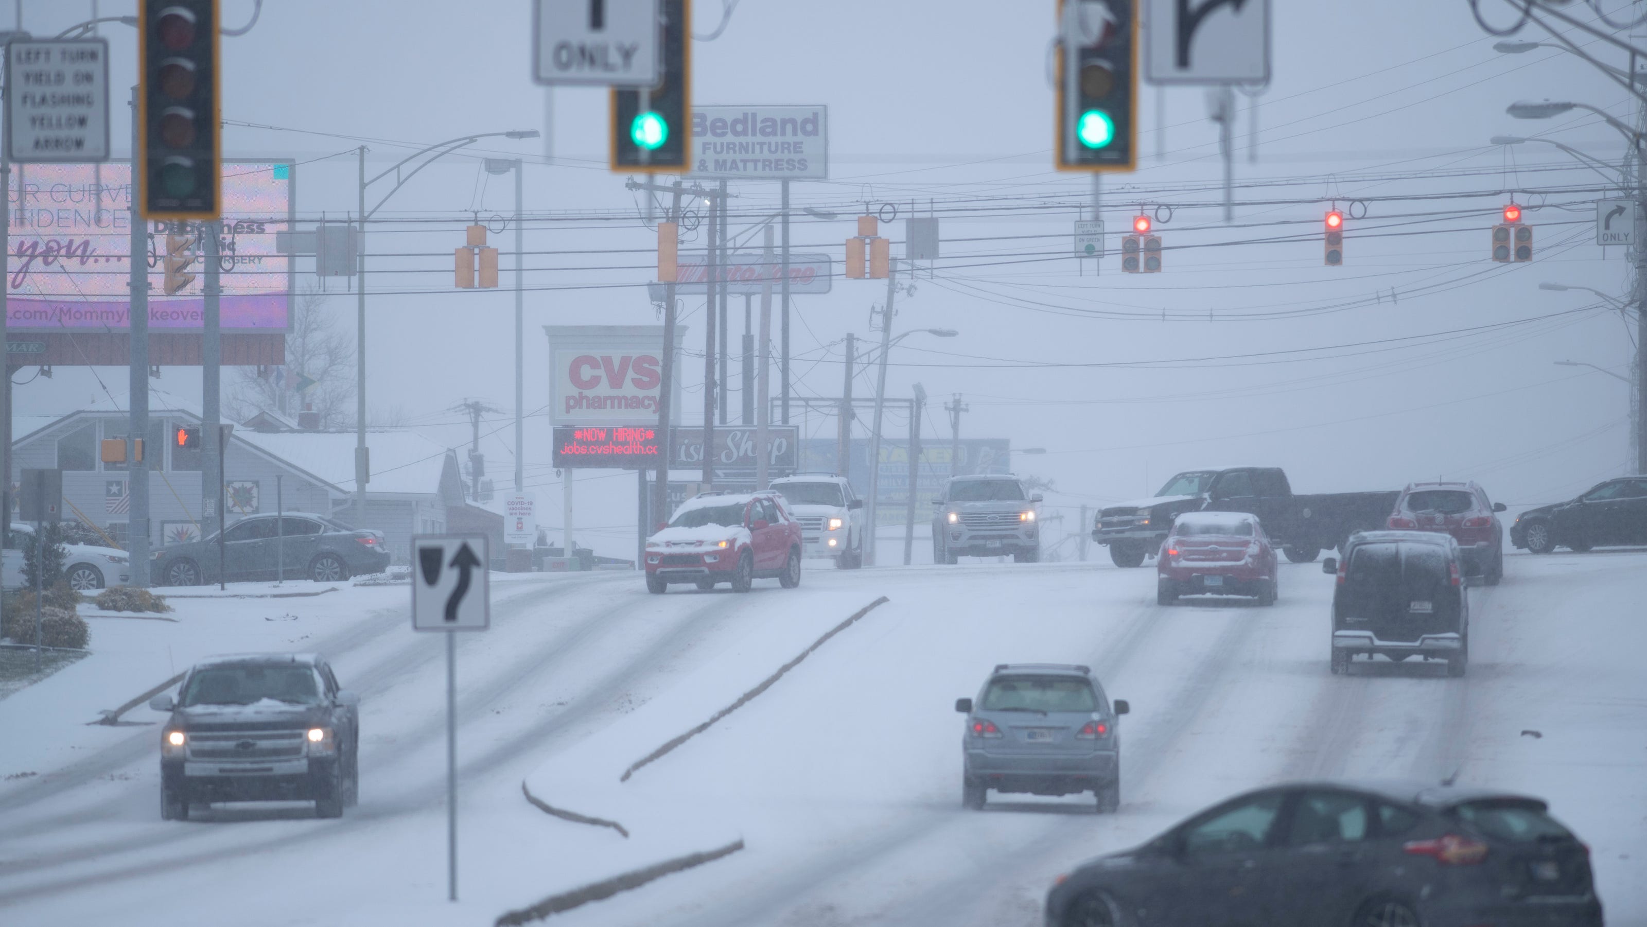
{"label": "red sedan with snowy rear window, ahead of the black van", "polygon": [[1273,606],[1275,548],[1257,515],[1247,512],[1184,512],[1161,542],[1155,601],[1169,606],[1178,596],[1257,596]]}

